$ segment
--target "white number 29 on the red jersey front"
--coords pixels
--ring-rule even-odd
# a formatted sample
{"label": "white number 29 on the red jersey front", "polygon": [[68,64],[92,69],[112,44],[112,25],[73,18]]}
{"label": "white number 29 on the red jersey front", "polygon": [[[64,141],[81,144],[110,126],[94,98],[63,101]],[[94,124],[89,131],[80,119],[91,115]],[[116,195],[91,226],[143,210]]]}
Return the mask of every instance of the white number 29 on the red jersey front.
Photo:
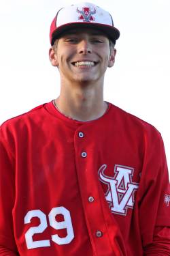
{"label": "white number 29 on the red jersey front", "polygon": [[[64,217],[64,221],[56,221],[56,215],[62,214]],[[33,241],[33,235],[35,233],[43,233],[43,231],[48,227],[46,214],[41,212],[41,210],[32,210],[29,211],[24,217],[24,224],[31,223],[31,218],[37,217],[40,220],[40,224],[37,227],[30,227],[28,231],[25,233],[25,240],[27,243],[27,248],[38,248],[38,247],[46,247],[50,246],[50,240],[39,240]],[[54,229],[67,229],[67,236],[65,238],[60,238],[57,234],[52,236],[52,241],[56,244],[69,244],[73,238],[73,225],[71,223],[71,216],[69,210],[65,207],[56,207],[52,208],[50,214],[48,215],[50,226]]]}

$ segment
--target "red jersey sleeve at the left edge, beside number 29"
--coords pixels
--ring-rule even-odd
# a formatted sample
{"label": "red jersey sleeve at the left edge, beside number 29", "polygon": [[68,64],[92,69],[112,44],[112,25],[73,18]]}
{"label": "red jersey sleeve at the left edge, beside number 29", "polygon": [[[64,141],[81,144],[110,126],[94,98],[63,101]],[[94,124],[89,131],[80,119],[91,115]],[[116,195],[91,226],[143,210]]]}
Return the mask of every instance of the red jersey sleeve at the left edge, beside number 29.
{"label": "red jersey sleeve at the left edge, beside number 29", "polygon": [[0,130],[0,255],[3,256],[18,255],[12,221],[15,201],[14,165],[14,157]]}

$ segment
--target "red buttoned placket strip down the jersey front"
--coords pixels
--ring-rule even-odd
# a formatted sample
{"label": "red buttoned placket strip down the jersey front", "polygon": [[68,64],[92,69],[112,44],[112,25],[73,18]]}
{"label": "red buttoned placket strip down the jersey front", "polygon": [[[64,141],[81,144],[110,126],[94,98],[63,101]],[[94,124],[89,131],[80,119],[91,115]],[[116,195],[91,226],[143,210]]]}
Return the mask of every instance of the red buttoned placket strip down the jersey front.
{"label": "red buttoned placket strip down the jersey front", "polygon": [[[76,137],[78,140],[76,140]],[[80,193],[82,195],[82,202],[84,205],[84,214],[88,220],[88,233],[90,239],[93,240],[94,246],[96,250],[98,250],[97,248],[100,247],[101,244],[104,246],[105,242],[107,242],[107,236],[104,236],[105,219],[103,218],[103,212],[101,211],[101,202],[97,200],[99,198],[99,189],[97,188],[97,182],[95,182],[95,186],[92,186],[91,183],[84,182],[85,180],[89,180],[89,178],[96,180],[97,177],[95,171],[93,171],[94,169],[92,169],[92,158],[91,151],[89,151],[90,144],[88,134],[84,134],[82,130],[79,130],[76,137],[76,152],[78,154],[75,157],[77,158],[76,166],[78,170]],[[92,191],[93,193],[89,195],[89,192]],[[96,218],[98,214],[99,216]]]}

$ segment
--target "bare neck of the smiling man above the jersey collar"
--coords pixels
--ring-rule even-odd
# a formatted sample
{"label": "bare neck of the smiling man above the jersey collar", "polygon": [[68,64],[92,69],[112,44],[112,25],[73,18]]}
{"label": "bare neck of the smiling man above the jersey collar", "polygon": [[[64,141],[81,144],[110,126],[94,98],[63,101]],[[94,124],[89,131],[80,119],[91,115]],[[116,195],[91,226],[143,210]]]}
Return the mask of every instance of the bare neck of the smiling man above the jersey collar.
{"label": "bare neck of the smiling man above the jersey collar", "polygon": [[103,101],[103,85],[82,87],[61,85],[60,96],[54,100],[57,109],[78,121],[90,121],[101,117],[107,110]]}

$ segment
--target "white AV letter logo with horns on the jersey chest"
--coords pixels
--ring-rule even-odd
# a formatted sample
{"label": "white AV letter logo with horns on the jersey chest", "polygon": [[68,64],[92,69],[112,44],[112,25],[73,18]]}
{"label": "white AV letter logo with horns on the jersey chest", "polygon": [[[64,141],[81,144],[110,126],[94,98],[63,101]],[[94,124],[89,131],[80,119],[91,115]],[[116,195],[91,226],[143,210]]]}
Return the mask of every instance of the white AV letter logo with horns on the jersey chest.
{"label": "white AV letter logo with horns on the jersey chest", "polygon": [[99,179],[108,186],[105,199],[114,214],[126,216],[127,209],[133,209],[134,193],[139,188],[138,183],[132,182],[134,169],[115,165],[114,177],[108,177],[104,173],[106,168],[107,165],[102,165],[99,169]]}

